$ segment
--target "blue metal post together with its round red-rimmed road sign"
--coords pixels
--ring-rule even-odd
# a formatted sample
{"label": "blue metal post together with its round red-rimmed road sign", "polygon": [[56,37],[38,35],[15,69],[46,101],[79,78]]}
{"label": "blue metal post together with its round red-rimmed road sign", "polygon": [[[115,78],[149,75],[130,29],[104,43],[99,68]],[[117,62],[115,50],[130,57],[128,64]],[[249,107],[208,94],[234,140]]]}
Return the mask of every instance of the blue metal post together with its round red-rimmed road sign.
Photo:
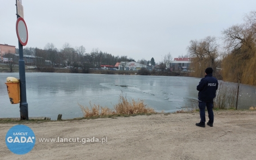
{"label": "blue metal post together with its round red-rimmed road sign", "polygon": [[[19,8],[18,8],[19,7]],[[25,60],[23,59],[23,46],[27,45],[28,30],[23,19],[23,6],[21,1],[16,0],[17,22],[16,33],[19,39],[19,75],[20,75],[20,116],[21,120],[28,120],[28,103],[26,93]]]}

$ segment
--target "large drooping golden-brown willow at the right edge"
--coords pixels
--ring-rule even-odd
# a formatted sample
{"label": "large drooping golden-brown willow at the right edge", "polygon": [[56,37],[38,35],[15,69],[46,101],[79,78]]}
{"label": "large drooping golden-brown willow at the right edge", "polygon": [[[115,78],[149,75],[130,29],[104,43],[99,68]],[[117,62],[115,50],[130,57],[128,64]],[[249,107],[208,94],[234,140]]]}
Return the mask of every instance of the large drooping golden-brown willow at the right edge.
{"label": "large drooping golden-brown willow at the right edge", "polygon": [[225,49],[222,76],[225,81],[256,85],[256,12],[245,16],[245,23],[223,30]]}

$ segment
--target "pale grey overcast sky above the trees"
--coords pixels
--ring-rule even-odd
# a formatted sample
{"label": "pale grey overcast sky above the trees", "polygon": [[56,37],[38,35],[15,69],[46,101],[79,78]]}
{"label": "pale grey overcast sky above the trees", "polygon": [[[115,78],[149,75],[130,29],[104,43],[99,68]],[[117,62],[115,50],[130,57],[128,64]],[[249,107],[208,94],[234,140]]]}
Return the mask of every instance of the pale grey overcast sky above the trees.
{"label": "pale grey overcast sky above the trees", "polygon": [[[18,46],[16,1],[0,0],[0,44]],[[187,54],[190,40],[221,38],[222,30],[243,23],[255,0],[22,0],[28,28],[25,47],[58,49],[65,42],[114,56],[160,62]]]}

